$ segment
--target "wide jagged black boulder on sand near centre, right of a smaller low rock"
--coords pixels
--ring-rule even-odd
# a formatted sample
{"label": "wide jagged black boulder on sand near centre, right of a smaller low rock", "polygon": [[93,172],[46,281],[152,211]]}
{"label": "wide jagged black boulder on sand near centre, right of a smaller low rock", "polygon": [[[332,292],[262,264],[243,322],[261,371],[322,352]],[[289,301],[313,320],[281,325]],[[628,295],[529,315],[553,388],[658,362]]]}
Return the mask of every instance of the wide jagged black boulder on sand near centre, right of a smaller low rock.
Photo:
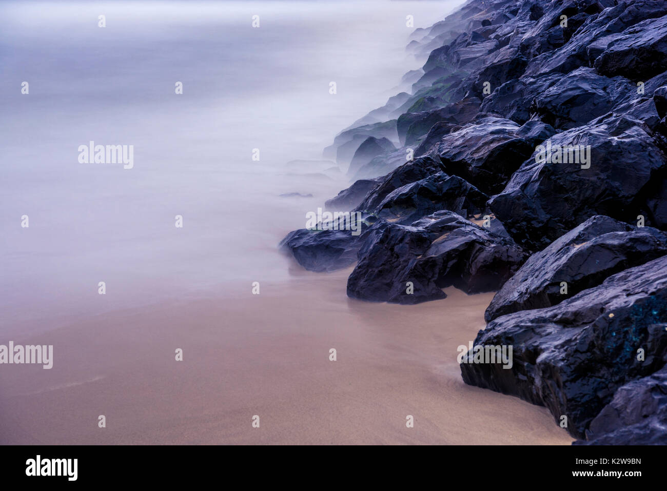
{"label": "wide jagged black boulder on sand near centre, right of a smaller low rock", "polygon": [[499,288],[526,258],[511,239],[452,211],[438,211],[410,226],[384,223],[374,225],[360,249],[348,278],[351,298],[418,304],[445,298],[442,289],[448,286],[488,292]]}

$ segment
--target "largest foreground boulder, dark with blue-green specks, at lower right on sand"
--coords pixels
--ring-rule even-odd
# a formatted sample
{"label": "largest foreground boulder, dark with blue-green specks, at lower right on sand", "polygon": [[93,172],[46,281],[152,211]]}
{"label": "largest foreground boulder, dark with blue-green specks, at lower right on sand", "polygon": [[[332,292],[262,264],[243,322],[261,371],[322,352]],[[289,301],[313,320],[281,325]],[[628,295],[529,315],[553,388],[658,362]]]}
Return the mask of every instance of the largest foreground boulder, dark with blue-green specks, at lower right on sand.
{"label": "largest foreground boulder, dark with blue-green specks, at lower right on sand", "polygon": [[461,373],[466,384],[546,406],[557,422],[567,416],[568,432],[584,438],[620,386],[664,366],[665,326],[667,256],[662,256],[556,306],[493,320],[474,344],[512,346],[511,368],[475,363],[471,350]]}

